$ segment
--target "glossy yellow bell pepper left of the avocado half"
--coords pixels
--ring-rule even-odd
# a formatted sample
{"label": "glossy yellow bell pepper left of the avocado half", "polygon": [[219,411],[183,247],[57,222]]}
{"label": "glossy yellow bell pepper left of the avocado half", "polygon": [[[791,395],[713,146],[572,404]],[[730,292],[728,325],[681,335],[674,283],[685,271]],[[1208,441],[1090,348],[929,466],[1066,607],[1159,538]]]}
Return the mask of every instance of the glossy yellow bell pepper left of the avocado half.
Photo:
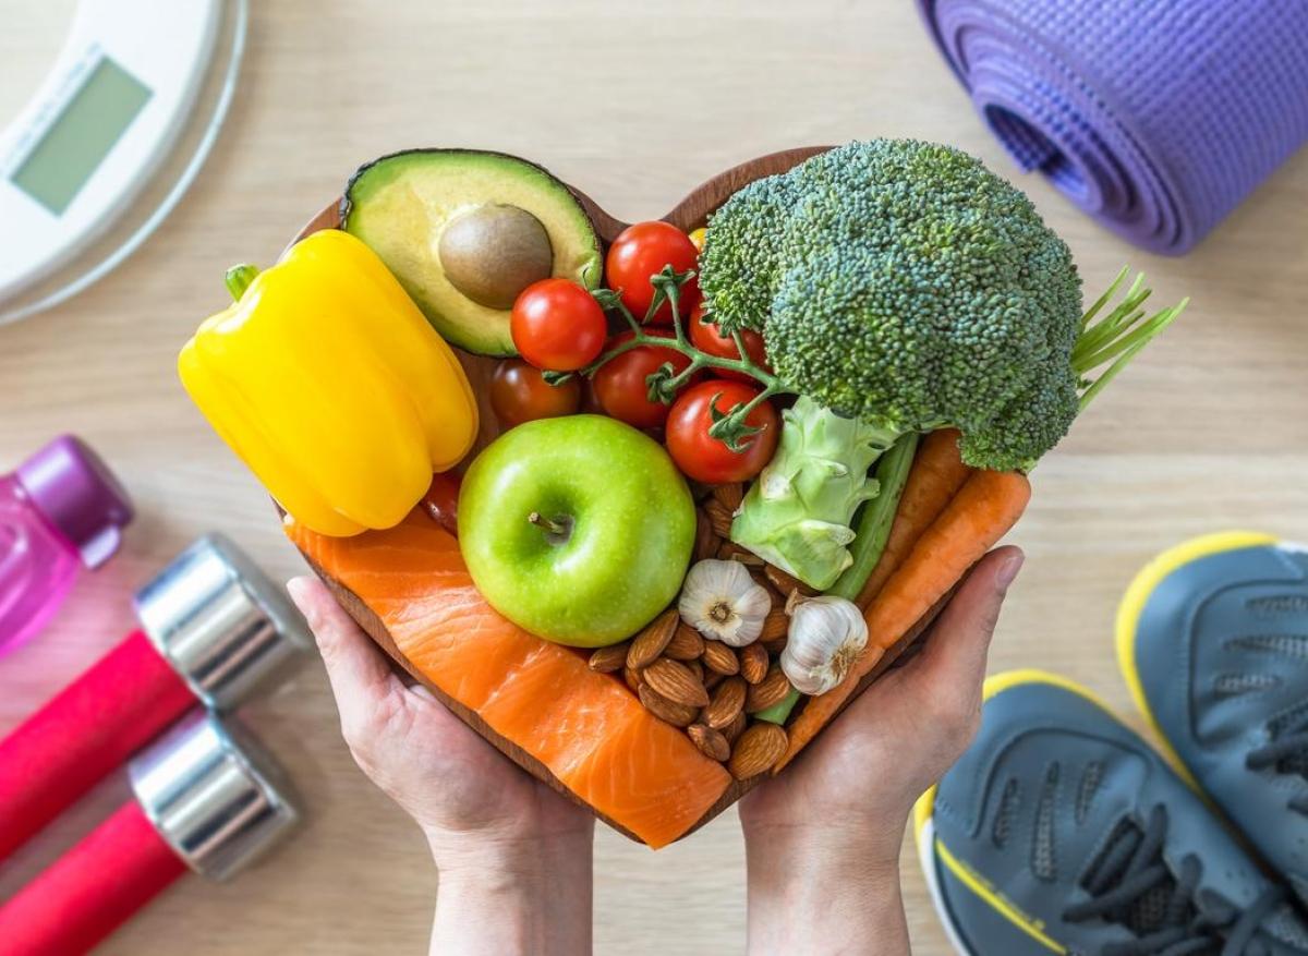
{"label": "glossy yellow bell pepper left of the avocado half", "polygon": [[296,521],[398,524],[476,438],[463,367],[353,235],[314,233],[255,272],[228,273],[237,302],[182,349],[182,384]]}

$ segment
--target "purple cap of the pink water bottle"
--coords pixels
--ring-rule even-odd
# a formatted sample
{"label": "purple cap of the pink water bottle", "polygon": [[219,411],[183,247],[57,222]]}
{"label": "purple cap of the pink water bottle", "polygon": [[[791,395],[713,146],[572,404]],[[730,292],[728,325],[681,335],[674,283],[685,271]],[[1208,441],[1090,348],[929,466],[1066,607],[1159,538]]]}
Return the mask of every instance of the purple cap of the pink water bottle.
{"label": "purple cap of the pink water bottle", "polygon": [[55,438],[14,475],[35,509],[77,548],[84,565],[99,568],[118,551],[132,521],[132,501],[80,438]]}

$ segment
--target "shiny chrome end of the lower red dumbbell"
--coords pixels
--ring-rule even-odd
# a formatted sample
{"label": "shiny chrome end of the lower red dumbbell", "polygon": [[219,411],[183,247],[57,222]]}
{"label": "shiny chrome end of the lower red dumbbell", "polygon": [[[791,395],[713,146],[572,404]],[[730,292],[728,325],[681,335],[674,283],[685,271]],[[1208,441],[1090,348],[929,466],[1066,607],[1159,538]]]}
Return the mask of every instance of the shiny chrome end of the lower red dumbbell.
{"label": "shiny chrome end of the lower red dumbbell", "polygon": [[277,766],[239,725],[194,710],[127,765],[164,841],[203,876],[234,876],[300,820]]}

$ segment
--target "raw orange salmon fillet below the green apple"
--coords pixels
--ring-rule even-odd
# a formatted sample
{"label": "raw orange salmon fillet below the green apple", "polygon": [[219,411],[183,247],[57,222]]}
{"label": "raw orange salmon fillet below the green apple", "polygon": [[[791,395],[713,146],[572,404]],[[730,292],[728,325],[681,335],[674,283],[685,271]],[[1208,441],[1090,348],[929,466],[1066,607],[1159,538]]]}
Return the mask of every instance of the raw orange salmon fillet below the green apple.
{"label": "raw orange salmon fillet below the green apple", "polygon": [[354,538],[326,538],[293,521],[285,528],[382,620],[428,680],[650,846],[684,834],[730,785],[721,764],[620,681],[496,613],[458,541],[424,511]]}

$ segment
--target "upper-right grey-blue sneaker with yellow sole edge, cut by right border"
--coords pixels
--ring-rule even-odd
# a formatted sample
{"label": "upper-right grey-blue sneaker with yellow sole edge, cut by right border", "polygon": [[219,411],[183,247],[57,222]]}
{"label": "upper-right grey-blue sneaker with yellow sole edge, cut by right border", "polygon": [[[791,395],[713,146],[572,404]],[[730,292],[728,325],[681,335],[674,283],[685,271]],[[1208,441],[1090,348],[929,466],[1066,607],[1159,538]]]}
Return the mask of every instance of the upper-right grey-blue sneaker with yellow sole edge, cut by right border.
{"label": "upper-right grey-blue sneaker with yellow sole edge, cut by right border", "polygon": [[1126,592],[1117,657],[1198,787],[1308,901],[1308,553],[1248,532],[1164,552]]}

